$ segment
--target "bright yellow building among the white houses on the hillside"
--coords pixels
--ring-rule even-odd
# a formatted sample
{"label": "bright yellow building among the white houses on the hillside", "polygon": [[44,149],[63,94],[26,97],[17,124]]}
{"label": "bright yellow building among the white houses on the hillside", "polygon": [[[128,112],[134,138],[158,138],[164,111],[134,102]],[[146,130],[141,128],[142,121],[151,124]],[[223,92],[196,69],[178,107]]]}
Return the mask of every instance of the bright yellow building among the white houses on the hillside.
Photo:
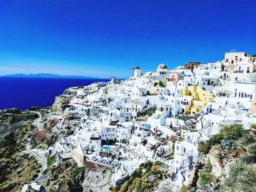
{"label": "bright yellow building among the white houses on the hillside", "polygon": [[184,89],[182,93],[183,97],[187,97],[191,100],[191,107],[189,110],[185,111],[186,114],[195,115],[197,112],[203,110],[208,101],[212,101],[214,96],[208,92],[204,91],[203,88],[197,86],[189,86]]}

